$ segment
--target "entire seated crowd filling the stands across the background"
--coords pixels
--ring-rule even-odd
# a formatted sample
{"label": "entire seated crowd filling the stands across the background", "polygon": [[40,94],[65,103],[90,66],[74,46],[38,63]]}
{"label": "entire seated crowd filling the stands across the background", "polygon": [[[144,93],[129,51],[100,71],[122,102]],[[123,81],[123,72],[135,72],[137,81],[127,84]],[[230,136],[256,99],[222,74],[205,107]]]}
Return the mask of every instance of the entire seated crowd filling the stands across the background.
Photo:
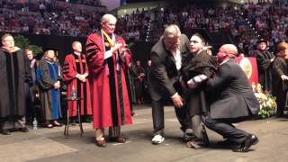
{"label": "entire seated crowd filling the stands across the background", "polygon": [[[91,5],[92,1],[76,1],[76,4]],[[96,4],[99,4],[98,1]],[[93,4],[92,4],[93,5]],[[228,34],[239,51],[250,56],[258,37],[269,41],[274,47],[277,42],[287,40],[287,3],[242,4],[238,7],[226,4],[199,7],[193,4],[173,5],[160,10],[136,9],[132,14],[121,16],[116,33],[128,42],[145,40],[149,21],[157,20],[156,34],[166,24],[178,24],[183,30],[205,28],[209,32]],[[104,14],[98,10],[84,10],[67,3],[45,1],[37,3],[0,3],[0,31],[31,34],[58,34],[86,36],[100,28],[99,19]],[[259,35],[259,36],[258,36]]]}

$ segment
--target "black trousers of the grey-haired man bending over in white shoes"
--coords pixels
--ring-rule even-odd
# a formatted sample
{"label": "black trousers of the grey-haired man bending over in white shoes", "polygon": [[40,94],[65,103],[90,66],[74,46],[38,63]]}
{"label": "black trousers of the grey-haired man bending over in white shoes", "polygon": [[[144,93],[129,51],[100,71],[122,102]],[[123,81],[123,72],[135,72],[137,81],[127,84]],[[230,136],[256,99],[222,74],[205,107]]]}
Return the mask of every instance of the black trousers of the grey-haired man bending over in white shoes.
{"label": "black trousers of the grey-haired man bending over in white shoes", "polygon": [[[165,101],[159,100],[155,101],[152,99],[152,117],[153,117],[153,127],[154,134],[163,135],[164,131],[164,103]],[[187,114],[186,106],[182,108],[175,107],[175,113],[178,121],[181,124],[181,130],[185,131],[187,129],[191,129],[191,121]]]}

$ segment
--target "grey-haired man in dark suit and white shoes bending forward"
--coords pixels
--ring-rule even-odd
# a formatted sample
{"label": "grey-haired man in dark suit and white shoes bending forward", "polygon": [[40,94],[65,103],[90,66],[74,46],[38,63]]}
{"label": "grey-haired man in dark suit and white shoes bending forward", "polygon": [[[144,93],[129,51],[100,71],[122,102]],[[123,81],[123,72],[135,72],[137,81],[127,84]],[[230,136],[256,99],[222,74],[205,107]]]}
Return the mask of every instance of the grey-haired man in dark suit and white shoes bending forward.
{"label": "grey-haired man in dark suit and white shoes bending forward", "polygon": [[154,126],[153,144],[164,141],[164,102],[172,99],[175,113],[181,123],[181,130],[189,128],[186,109],[181,97],[179,69],[182,60],[189,53],[189,40],[181,34],[175,24],[166,27],[162,37],[151,49],[151,67],[148,74],[148,88],[152,99],[152,116]]}

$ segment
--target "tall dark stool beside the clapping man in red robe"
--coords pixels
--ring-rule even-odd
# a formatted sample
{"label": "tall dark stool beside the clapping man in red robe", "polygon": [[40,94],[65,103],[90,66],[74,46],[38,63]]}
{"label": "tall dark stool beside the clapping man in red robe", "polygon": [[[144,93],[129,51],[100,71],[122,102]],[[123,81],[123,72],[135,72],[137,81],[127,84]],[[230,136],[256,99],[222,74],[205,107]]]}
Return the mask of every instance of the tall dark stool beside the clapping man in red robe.
{"label": "tall dark stool beside the clapping man in red robe", "polygon": [[[69,102],[69,101],[80,101],[82,99],[83,98],[81,98],[81,97],[75,97],[75,98],[67,97],[67,98],[64,98],[63,100],[66,102]],[[81,121],[80,105],[77,105],[77,114],[78,114],[78,121],[79,121],[79,128],[80,128],[80,136],[83,136],[84,131],[83,131],[82,121]],[[69,126],[70,126],[69,109],[67,107],[67,121],[65,124],[65,130],[64,130],[64,136],[66,138],[68,138],[68,136],[69,136]]]}

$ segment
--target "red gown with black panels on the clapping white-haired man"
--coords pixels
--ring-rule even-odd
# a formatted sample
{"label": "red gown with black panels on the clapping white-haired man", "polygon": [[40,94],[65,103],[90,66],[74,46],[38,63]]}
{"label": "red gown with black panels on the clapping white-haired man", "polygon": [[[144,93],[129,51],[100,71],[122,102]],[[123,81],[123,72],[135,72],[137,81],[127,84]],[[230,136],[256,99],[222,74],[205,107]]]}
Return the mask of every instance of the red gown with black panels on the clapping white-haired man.
{"label": "red gown with black panels on the clapping white-haired man", "polygon": [[[115,41],[125,44],[125,40],[118,36],[115,36]],[[110,48],[101,32],[92,33],[87,37],[86,59],[90,72],[94,129],[132,123],[125,79],[130,64],[130,54],[126,52],[127,54],[119,57],[117,66],[115,54],[104,59],[105,51]]]}

